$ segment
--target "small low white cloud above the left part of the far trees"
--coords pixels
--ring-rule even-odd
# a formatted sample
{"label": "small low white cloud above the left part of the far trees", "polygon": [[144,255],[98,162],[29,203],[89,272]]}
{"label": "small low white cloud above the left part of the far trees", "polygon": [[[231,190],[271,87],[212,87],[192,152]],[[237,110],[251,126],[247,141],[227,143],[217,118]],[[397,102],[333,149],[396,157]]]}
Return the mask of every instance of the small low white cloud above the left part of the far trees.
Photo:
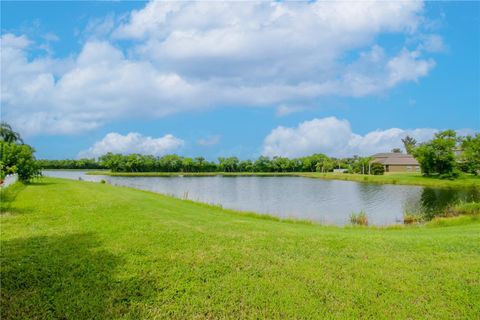
{"label": "small low white cloud above the left part of the far trees", "polygon": [[111,132],[102,140],[95,142],[88,150],[80,152],[78,156],[80,158],[99,157],[107,152],[161,156],[178,150],[184,143],[182,139],[176,138],[171,134],[161,138],[152,138],[136,132],[130,132],[126,135]]}

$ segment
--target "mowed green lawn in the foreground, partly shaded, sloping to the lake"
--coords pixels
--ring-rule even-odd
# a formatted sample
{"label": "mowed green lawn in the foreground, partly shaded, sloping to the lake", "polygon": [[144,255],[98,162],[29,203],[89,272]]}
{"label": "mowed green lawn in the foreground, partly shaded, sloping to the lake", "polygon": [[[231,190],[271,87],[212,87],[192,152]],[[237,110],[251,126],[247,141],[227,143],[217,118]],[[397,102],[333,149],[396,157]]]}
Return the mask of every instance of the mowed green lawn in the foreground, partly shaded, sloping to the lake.
{"label": "mowed green lawn in the foreground, partly shaded, sloping to the lake", "polygon": [[0,219],[2,319],[480,316],[474,217],[324,227],[45,178]]}

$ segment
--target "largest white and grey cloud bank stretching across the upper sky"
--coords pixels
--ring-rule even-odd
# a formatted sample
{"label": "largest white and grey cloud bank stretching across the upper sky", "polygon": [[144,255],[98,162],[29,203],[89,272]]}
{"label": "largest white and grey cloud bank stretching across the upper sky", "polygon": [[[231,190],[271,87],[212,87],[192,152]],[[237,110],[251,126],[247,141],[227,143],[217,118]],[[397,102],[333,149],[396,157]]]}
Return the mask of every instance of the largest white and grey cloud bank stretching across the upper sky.
{"label": "largest white and grey cloud bank stretching across the upper sky", "polygon": [[[286,114],[323,96],[379,94],[435,66],[440,36],[406,41],[424,20],[421,1],[153,1],[89,24],[94,36],[68,58],[31,55],[37,44],[3,34],[2,117],[26,135],[72,134],[116,119],[231,106]],[[386,50],[383,34],[405,40]]]}

